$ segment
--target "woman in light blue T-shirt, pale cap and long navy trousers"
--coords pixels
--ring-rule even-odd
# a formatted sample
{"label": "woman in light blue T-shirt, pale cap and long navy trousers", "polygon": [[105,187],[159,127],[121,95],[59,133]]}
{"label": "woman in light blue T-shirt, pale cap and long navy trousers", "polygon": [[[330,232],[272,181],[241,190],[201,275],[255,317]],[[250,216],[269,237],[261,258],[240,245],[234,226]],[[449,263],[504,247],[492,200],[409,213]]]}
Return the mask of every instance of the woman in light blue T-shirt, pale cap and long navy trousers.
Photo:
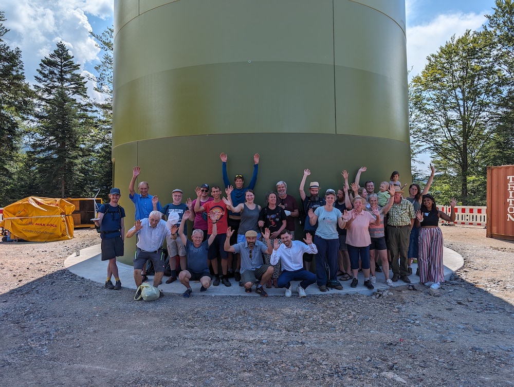
{"label": "woman in light blue T-shirt, pale cap and long navy trousers", "polygon": [[[311,225],[318,223],[314,243],[318,247],[316,254],[316,279],[320,291],[327,291],[327,286],[342,290],[343,287],[337,281],[337,256],[339,250],[339,233],[337,227],[344,228],[341,211],[334,207],[336,191],[329,188],[325,192],[325,205],[315,211],[309,209],[308,216]],[[328,268],[328,276],[327,276]]]}

